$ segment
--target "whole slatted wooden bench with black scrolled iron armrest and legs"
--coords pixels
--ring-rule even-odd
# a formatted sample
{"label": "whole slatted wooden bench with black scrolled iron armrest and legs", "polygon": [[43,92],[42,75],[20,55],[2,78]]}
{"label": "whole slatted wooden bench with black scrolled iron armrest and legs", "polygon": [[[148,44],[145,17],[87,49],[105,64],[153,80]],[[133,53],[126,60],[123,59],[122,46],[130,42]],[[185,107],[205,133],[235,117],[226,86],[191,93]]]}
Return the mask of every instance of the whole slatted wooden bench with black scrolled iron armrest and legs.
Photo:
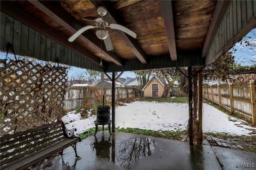
{"label": "whole slatted wooden bench with black scrolled iron armrest and legs", "polygon": [[66,129],[62,121],[28,129],[0,137],[1,170],[26,169],[64,148],[72,146],[76,159],[76,142],[81,138],[74,135],[76,128]]}

